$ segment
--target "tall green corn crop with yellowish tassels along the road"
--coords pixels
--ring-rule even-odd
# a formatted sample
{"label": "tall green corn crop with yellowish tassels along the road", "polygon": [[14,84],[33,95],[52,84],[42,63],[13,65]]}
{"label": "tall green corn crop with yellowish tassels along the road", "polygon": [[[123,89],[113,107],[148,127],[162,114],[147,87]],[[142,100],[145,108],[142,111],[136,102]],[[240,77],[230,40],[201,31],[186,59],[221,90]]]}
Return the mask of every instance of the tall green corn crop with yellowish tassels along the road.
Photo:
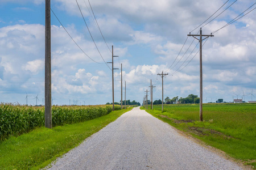
{"label": "tall green corn crop with yellowish tassels along the road", "polygon": [[[121,107],[115,105],[115,110]],[[109,114],[110,105],[52,107],[52,126],[92,120]],[[44,126],[44,107],[0,105],[0,141]]]}

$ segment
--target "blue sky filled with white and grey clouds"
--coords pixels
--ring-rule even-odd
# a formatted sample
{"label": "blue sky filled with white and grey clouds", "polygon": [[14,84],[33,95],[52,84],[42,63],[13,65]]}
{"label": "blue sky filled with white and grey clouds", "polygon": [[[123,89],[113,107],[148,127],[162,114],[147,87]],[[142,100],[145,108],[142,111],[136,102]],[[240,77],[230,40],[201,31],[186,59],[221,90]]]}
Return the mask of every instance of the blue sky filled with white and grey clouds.
{"label": "blue sky filled with white and grey clouds", "polygon": [[[90,5],[88,0],[51,1],[52,11],[83,50],[51,13],[53,104],[112,102],[112,65],[105,63],[112,61],[112,45],[119,56],[114,58],[119,69],[114,70],[115,101],[121,100],[121,63],[123,99],[126,81],[126,99],[141,103],[151,79],[154,100],[162,99],[157,75],[162,71],[168,73],[164,98],[199,95],[198,40],[187,35],[200,27],[209,35],[256,7],[255,0],[94,0]],[[36,104],[37,95],[43,103],[44,10],[43,0],[0,0],[0,102],[26,104],[27,94],[28,104]],[[245,101],[256,100],[255,12],[204,40],[204,103],[241,99],[243,93]],[[252,90],[254,96],[248,95]]]}

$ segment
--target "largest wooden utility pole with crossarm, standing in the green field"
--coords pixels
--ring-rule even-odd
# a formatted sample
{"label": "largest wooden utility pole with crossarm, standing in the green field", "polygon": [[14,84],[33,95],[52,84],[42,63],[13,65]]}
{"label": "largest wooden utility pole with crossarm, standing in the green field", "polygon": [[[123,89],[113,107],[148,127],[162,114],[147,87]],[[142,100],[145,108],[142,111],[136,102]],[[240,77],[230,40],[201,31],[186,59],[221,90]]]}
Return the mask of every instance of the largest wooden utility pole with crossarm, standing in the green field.
{"label": "largest wooden utility pole with crossarm, standing in the green field", "polygon": [[[191,33],[189,32],[188,36],[192,36],[195,39],[197,39],[196,37],[199,36],[200,39],[200,121],[203,121],[203,67],[202,67],[202,41],[207,39],[208,37],[213,37],[213,35],[202,35],[202,28],[200,28],[200,35],[191,35]],[[204,39],[202,39],[202,37],[205,37]]]}

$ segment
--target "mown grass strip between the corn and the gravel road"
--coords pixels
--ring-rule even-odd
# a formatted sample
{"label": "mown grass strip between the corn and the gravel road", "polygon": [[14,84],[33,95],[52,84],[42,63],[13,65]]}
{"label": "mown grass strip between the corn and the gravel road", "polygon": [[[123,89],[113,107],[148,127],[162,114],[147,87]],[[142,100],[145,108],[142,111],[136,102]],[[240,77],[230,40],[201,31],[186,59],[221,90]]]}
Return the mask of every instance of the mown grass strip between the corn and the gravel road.
{"label": "mown grass strip between the corn and the gravel road", "polygon": [[19,137],[11,137],[0,143],[0,169],[44,168],[131,109],[53,129],[37,128]]}

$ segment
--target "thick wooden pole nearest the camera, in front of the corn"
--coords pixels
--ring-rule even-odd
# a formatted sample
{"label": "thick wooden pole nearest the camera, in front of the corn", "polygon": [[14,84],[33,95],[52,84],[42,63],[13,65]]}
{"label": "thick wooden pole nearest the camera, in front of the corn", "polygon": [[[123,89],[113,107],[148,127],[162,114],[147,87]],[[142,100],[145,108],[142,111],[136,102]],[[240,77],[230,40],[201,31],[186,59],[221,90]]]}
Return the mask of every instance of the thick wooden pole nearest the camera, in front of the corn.
{"label": "thick wooden pole nearest the camera, in front of the corn", "polygon": [[51,0],[46,0],[46,25],[45,25],[45,126],[52,128],[52,105],[51,105]]}

